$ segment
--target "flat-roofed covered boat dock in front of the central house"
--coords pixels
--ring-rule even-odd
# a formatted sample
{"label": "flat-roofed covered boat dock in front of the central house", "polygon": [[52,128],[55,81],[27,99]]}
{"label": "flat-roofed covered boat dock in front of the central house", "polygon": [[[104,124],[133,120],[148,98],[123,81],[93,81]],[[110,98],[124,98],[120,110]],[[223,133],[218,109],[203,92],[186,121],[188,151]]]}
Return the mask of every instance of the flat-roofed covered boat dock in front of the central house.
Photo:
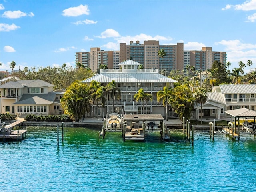
{"label": "flat-roofed covered boat dock in front of the central house", "polygon": [[[140,114],[140,115],[124,115],[123,140],[145,140],[145,130],[148,130],[147,124],[154,121],[160,122],[159,130],[162,133],[167,133],[164,130],[164,118],[159,114]],[[158,125],[157,125],[158,126]],[[162,139],[166,139],[165,134],[161,134]]]}

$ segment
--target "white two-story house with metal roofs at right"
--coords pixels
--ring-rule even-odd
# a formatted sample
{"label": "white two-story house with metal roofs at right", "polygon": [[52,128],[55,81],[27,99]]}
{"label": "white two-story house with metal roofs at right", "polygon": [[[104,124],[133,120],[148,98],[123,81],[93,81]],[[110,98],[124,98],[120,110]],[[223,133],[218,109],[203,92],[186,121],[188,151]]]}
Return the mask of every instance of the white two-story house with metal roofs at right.
{"label": "white two-story house with metal roofs at right", "polygon": [[[220,119],[225,116],[226,110],[247,108],[256,110],[256,85],[251,84],[228,84],[214,86],[212,93],[207,93],[207,101],[202,105],[204,118]],[[196,103],[195,118],[201,117],[201,106]]]}

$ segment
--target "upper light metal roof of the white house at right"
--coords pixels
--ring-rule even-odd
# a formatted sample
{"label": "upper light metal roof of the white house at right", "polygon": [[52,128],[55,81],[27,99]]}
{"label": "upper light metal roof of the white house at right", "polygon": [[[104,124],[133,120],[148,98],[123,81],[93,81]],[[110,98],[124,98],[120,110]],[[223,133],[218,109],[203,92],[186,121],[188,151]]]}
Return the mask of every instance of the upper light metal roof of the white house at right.
{"label": "upper light metal roof of the white house at right", "polygon": [[223,94],[256,94],[256,85],[220,85]]}

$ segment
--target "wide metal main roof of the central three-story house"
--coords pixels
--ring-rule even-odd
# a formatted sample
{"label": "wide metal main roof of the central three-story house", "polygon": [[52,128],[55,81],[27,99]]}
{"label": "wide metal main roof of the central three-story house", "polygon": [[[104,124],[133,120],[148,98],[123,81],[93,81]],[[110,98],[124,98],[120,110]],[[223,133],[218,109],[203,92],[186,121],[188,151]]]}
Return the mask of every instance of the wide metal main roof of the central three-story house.
{"label": "wide metal main roof of the central three-story house", "polygon": [[168,78],[164,75],[161,75],[159,73],[104,73],[104,74],[98,74],[91,78],[88,78],[86,80],[83,80],[83,83],[90,83],[92,80],[95,80],[97,82],[101,83],[108,83],[112,82],[112,80],[115,80],[115,82],[122,83],[122,82],[170,82],[174,83],[177,82],[176,80],[173,80],[171,78]]}

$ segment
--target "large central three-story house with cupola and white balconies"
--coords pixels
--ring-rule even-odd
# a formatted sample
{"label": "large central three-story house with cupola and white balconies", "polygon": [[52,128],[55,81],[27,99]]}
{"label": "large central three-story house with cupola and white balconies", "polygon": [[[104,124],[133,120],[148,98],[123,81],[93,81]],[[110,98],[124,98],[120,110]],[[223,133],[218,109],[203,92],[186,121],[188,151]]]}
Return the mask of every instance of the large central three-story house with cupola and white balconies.
{"label": "large central three-story house with cupola and white balconies", "polygon": [[[115,112],[121,114],[123,111],[126,114],[142,114],[143,103],[135,102],[134,95],[139,89],[143,89],[145,93],[153,96],[153,100],[147,104],[144,103],[144,113],[147,114],[161,114],[166,116],[162,103],[157,102],[157,92],[163,90],[164,86],[173,88],[174,82],[171,78],[159,74],[158,69],[138,69],[140,63],[133,60],[126,60],[118,64],[120,69],[101,69],[100,74],[91,78],[83,80],[82,82],[90,84],[92,80],[100,82],[102,86],[106,86],[109,82],[114,80],[116,86],[120,88],[121,94],[116,96]],[[113,100],[110,95],[106,98],[105,108],[101,104],[96,111],[96,105],[92,104],[90,116],[98,116],[112,113]],[[171,109],[170,109],[171,111]],[[168,114],[169,116],[170,114]]]}

